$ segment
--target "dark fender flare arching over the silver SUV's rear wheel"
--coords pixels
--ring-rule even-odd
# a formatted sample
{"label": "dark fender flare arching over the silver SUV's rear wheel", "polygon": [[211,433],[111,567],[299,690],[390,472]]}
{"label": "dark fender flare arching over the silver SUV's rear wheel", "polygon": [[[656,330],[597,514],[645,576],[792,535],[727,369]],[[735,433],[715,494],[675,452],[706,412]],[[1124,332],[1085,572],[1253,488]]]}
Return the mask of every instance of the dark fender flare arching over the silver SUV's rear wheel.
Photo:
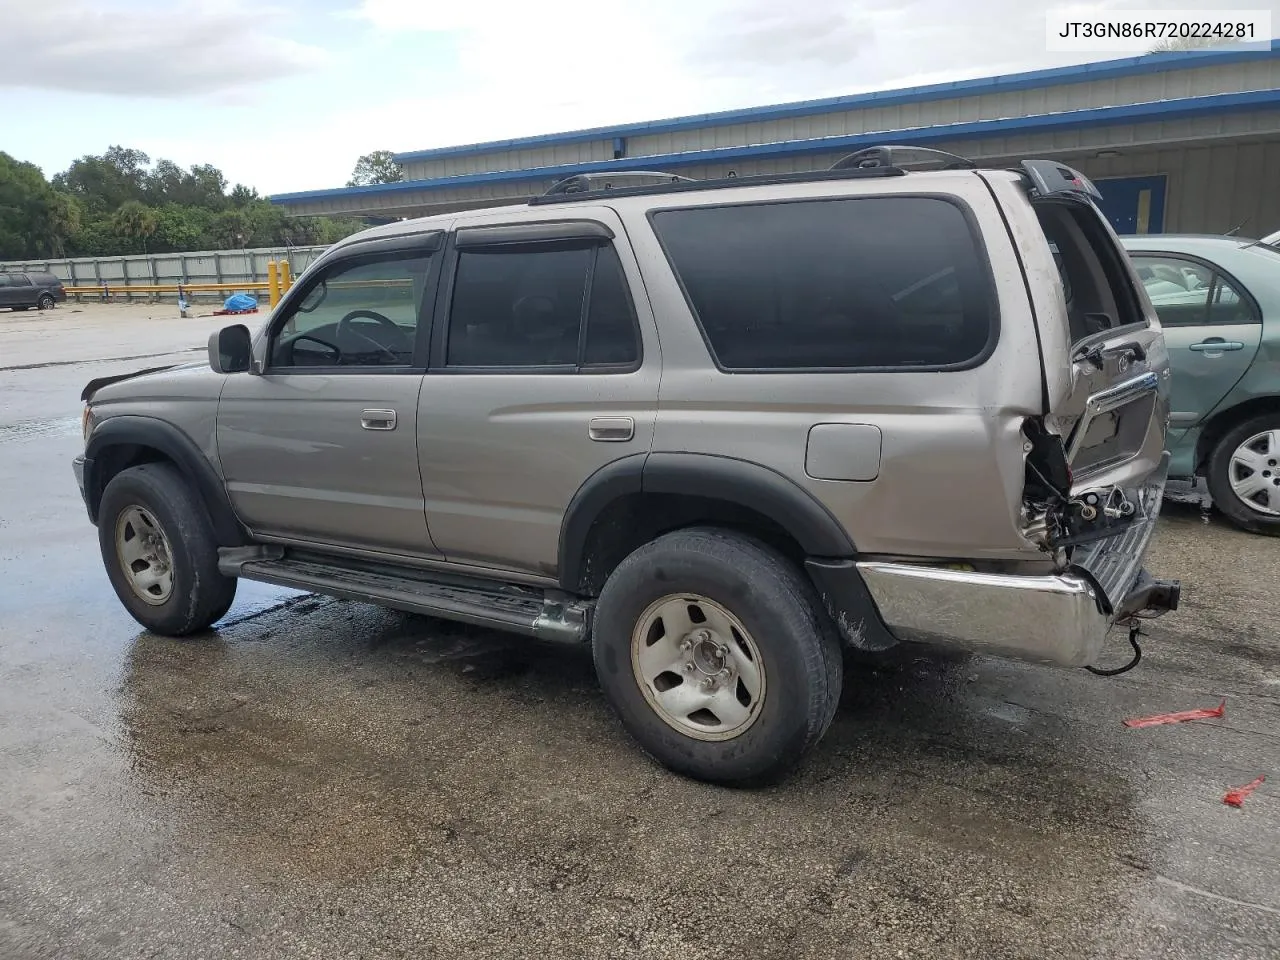
{"label": "dark fender flare arching over the silver SUV's rear wheel", "polygon": [[714,453],[634,453],[596,470],[573,494],[561,524],[558,580],[575,589],[595,518],[620,497],[667,493],[754,509],[787,530],[809,557],[847,558],[856,548],[818,499],[776,470]]}

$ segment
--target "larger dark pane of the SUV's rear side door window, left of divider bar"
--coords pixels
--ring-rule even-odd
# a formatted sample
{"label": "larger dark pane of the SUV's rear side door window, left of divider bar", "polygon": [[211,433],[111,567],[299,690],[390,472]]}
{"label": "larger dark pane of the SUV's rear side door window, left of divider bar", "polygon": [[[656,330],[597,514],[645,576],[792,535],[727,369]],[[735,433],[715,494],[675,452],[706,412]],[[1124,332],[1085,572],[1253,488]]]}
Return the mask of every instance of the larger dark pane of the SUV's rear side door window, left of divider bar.
{"label": "larger dark pane of the SUV's rear side door window, left of divider bar", "polygon": [[463,250],[449,311],[449,366],[577,364],[594,247]]}

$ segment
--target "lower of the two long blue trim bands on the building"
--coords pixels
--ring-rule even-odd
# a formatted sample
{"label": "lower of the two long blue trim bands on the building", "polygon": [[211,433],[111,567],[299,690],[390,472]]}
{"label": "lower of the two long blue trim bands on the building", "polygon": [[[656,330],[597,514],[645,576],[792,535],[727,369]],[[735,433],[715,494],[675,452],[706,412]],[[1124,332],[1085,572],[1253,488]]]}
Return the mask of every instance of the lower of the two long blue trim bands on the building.
{"label": "lower of the two long blue trim bands on the building", "polygon": [[879,131],[876,133],[856,133],[846,137],[819,137],[817,140],[790,140],[778,143],[760,143],[745,147],[717,147],[696,150],[687,154],[667,154],[662,156],[623,157],[620,160],[589,160],[580,164],[559,166],[538,166],[524,170],[492,170],[458,177],[440,177],[430,180],[401,180],[399,183],[379,183],[371,187],[338,187],[335,189],[305,191],[301,193],[278,193],[270,197],[273,204],[289,204],[330,197],[355,197],[370,195],[402,193],[404,191],[448,189],[477,183],[503,183],[511,180],[545,180],[570,177],[576,173],[602,173],[607,170],[634,169],[636,164],[659,170],[691,166],[695,164],[723,163],[726,160],[745,160],[759,157],[803,156],[806,154],[826,154],[852,151],[859,147],[878,143],[938,143],[957,140],[980,140],[984,137],[1010,136],[1019,133],[1043,133],[1079,129],[1082,127],[1106,127],[1117,123],[1149,123],[1152,120],[1180,120],[1192,116],[1204,116],[1215,113],[1239,113],[1242,110],[1280,110],[1280,90],[1260,90],[1248,93],[1213,93],[1184,100],[1157,100],[1149,104],[1124,104],[1120,106],[1098,106],[1089,110],[1071,110],[1060,114],[1039,114],[1037,116],[1011,116],[1000,120],[970,120],[948,123],[936,127],[914,127],[905,131]]}

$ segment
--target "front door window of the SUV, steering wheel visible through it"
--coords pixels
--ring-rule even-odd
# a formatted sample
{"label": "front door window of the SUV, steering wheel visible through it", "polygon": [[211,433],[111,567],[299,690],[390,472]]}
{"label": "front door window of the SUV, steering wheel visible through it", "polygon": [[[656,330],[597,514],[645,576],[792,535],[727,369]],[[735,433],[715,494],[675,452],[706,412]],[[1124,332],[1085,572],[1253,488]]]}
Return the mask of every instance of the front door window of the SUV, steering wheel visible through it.
{"label": "front door window of the SUV, steering wheel visible through it", "polygon": [[429,259],[335,264],[279,328],[271,366],[388,366],[413,360]]}

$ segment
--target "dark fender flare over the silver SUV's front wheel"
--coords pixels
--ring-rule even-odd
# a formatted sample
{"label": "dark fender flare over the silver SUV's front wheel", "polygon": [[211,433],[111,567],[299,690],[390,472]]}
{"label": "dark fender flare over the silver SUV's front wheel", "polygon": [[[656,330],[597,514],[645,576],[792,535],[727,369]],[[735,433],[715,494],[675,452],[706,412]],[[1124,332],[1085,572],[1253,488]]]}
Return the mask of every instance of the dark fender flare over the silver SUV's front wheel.
{"label": "dark fender flare over the silver SUV's front wheel", "polygon": [[118,416],[104,420],[90,435],[84,445],[84,500],[90,518],[97,522],[97,511],[106,484],[101,476],[102,454],[113,447],[148,447],[173,461],[191,483],[214,526],[214,535],[221,547],[243,547],[248,536],[221,477],[196,443],[173,424],[146,416]]}

